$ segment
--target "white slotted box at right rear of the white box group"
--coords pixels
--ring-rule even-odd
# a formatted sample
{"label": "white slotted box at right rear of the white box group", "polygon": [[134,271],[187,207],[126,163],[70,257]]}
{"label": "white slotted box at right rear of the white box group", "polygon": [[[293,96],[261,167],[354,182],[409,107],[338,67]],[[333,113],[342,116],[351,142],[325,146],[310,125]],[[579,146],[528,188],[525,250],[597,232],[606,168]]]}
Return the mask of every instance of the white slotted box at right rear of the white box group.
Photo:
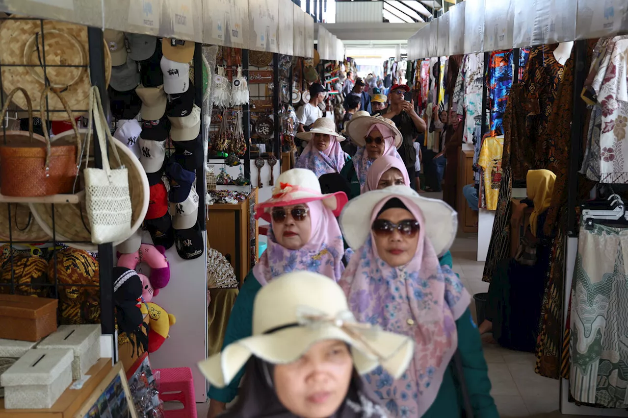
{"label": "white slotted box at right rear of the white box group", "polygon": [[62,325],[41,341],[38,348],[72,350],[72,378],[78,380],[100,358],[100,325]]}

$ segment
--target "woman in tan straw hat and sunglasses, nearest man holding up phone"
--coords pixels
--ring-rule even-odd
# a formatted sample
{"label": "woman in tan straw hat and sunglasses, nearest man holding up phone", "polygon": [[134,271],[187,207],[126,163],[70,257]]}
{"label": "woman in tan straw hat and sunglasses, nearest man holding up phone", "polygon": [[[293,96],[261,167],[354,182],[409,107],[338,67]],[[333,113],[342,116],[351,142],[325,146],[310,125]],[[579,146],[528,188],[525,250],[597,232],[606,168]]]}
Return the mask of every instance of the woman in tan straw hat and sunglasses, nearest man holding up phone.
{"label": "woman in tan straw hat and sunglasses, nearest man holding up phone", "polygon": [[382,156],[392,156],[401,160],[397,148],[401,146],[401,132],[390,119],[356,112],[345,132],[357,146],[353,164],[345,164],[340,174],[351,184],[350,199],[360,194],[366,183],[366,176],[373,161]]}

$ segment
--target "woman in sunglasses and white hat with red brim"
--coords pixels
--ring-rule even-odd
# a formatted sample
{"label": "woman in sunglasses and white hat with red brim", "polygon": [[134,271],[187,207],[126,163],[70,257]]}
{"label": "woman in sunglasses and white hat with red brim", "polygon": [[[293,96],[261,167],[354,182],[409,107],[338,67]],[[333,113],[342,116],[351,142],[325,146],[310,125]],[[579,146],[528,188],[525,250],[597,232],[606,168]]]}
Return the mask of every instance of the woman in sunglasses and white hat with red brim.
{"label": "woman in sunglasses and white hat with red brim", "polygon": [[[257,292],[275,277],[291,271],[311,271],[338,281],[344,265],[342,233],[336,217],[347,195],[323,195],[313,171],[294,168],[276,180],[273,197],[256,206],[256,218],[271,223],[268,247],[244,283],[231,311],[223,348],[252,333],[253,301]],[[213,418],[237,395],[244,370],[223,389],[212,387],[208,417]]]}

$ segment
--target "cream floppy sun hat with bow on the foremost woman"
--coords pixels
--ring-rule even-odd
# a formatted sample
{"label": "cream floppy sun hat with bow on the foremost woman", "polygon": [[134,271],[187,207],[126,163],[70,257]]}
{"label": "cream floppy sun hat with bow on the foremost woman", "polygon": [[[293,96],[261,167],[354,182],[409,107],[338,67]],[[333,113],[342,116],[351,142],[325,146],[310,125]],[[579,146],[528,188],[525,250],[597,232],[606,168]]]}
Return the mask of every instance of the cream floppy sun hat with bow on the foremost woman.
{"label": "cream floppy sun hat with bow on the foremost woman", "polygon": [[288,364],[319,341],[347,343],[360,374],[382,366],[399,378],[414,355],[411,338],[358,323],[340,286],[313,272],[284,274],[262,287],[253,304],[252,328],[252,336],[198,363],[212,385],[229,384],[251,356]]}

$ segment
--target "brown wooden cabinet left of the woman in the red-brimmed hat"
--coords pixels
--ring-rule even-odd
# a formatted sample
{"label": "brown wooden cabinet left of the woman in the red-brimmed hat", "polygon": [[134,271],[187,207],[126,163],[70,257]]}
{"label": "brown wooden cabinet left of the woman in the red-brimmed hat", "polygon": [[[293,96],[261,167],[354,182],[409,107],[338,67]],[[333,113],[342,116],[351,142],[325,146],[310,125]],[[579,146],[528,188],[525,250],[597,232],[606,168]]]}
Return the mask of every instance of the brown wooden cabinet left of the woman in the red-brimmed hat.
{"label": "brown wooden cabinet left of the woman in the red-brimmed hat", "polygon": [[257,261],[257,221],[252,213],[256,203],[257,188],[254,188],[240,203],[208,206],[207,247],[218,250],[229,260],[240,284],[251,270],[251,262]]}

